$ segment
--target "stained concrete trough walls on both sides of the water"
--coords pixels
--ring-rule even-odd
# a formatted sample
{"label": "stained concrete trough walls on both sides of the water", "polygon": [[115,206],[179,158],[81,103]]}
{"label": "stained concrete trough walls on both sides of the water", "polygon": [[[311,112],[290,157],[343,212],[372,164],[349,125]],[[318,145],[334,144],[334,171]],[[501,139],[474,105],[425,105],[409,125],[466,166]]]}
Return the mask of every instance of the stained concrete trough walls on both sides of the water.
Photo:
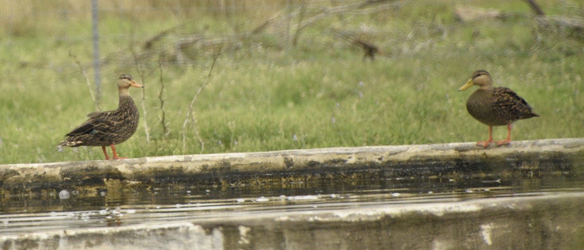
{"label": "stained concrete trough walls on both sides of the water", "polygon": [[[322,148],[0,166],[0,190],[58,192],[147,185],[258,185],[367,179],[582,180],[584,139]],[[123,189],[123,188],[122,188]],[[53,190],[53,191],[51,191]],[[92,191],[92,192],[93,192]],[[120,194],[123,192],[119,191]],[[584,193],[361,204],[237,213],[167,223],[0,235],[3,249],[578,249]]]}

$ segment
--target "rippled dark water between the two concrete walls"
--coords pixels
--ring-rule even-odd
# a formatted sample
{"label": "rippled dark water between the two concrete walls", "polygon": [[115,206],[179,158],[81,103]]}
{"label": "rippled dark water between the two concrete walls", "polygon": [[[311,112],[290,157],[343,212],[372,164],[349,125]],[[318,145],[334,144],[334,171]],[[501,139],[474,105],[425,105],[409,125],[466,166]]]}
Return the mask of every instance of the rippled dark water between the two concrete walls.
{"label": "rippled dark water between the two concrete walls", "polygon": [[449,203],[502,197],[584,192],[578,176],[489,176],[472,179],[367,179],[290,182],[286,186],[112,185],[99,190],[62,190],[0,199],[0,234],[50,232],[248,217],[291,211],[364,206]]}

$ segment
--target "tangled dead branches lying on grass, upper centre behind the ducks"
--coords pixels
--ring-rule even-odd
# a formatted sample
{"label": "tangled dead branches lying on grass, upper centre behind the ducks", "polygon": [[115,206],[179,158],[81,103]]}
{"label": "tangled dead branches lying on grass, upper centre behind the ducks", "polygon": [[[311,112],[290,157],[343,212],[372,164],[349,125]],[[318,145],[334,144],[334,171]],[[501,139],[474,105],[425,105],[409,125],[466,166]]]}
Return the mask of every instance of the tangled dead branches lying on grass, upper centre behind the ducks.
{"label": "tangled dead branches lying on grass, upper centre behind the ducks", "polygon": [[[277,12],[247,32],[224,35],[207,34],[205,31],[178,35],[176,30],[180,26],[172,27],[140,44],[142,51],[137,55],[137,60],[150,61],[151,57],[161,56],[167,62],[189,64],[199,60],[201,55],[214,54],[220,49],[229,52],[241,50],[244,45],[266,46],[262,43],[262,36],[266,35],[276,37],[277,48],[293,47],[297,45],[303,30],[308,28],[324,30],[324,34],[345,40],[361,48],[364,59],[374,60],[376,55],[385,54],[383,48],[375,41],[355,34],[359,32],[333,29],[332,27],[342,26],[333,20],[338,15],[366,15],[396,9],[404,4],[405,1],[377,0],[310,10],[307,6],[300,5]],[[246,48],[253,51],[249,47]],[[122,60],[116,58],[118,55],[110,55],[105,61]]]}

